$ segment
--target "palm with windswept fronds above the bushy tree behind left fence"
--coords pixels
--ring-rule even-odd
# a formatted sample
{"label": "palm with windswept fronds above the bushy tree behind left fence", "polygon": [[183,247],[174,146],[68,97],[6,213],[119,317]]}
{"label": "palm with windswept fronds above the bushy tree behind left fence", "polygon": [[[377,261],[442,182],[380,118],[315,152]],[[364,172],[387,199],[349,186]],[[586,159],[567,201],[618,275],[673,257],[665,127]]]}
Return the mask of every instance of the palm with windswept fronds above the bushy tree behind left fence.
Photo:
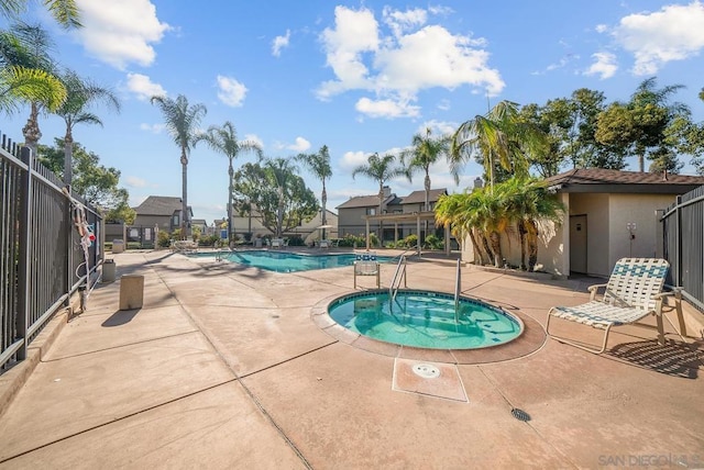
{"label": "palm with windswept fronds above the bushy tree behind left fence", "polygon": [[111,90],[100,87],[78,76],[73,70],[66,70],[62,76],[62,82],[66,87],[66,101],[54,114],[61,116],[66,124],[64,136],[64,182],[70,188],[73,179],[73,153],[74,153],[74,126],[76,124],[98,124],[102,121],[88,108],[97,101],[102,101],[109,108],[120,112],[120,101]]}

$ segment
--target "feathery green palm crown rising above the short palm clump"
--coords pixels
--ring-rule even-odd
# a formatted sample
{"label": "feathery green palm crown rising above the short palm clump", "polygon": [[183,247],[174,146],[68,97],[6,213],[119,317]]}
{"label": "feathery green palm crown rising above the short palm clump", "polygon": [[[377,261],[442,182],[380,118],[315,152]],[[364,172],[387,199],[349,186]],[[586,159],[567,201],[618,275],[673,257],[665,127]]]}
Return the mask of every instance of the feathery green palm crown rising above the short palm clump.
{"label": "feathery green palm crown rising above the short palm clump", "polygon": [[486,115],[476,115],[458,127],[452,136],[450,158],[453,165],[472,156],[481,159],[491,189],[495,165],[527,177],[526,155],[543,153],[547,145],[546,134],[520,119],[518,103],[501,101]]}

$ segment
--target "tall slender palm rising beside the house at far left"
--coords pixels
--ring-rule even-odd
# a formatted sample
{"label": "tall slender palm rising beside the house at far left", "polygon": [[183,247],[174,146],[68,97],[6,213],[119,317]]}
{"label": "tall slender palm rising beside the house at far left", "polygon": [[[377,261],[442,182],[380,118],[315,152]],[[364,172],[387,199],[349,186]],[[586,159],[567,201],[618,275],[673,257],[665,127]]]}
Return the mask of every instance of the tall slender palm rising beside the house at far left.
{"label": "tall slender palm rising beside the house at far left", "polygon": [[199,135],[200,120],[208,110],[204,104],[188,105],[188,99],[179,94],[175,100],[166,97],[152,97],[152,104],[156,103],[164,114],[164,124],[174,143],[180,147],[182,165],[182,220],[180,236],[187,238],[188,234],[188,156],[190,147]]}

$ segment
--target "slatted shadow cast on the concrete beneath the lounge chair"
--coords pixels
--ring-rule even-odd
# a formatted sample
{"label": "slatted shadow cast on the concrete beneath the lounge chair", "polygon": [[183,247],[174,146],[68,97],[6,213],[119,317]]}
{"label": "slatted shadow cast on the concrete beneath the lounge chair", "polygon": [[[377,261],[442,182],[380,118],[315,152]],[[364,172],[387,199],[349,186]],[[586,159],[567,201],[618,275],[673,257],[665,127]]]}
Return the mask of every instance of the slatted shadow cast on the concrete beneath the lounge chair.
{"label": "slatted shadow cast on the concrete beneath the lounge chair", "polygon": [[607,352],[608,356],[654,372],[684,379],[696,379],[702,363],[702,351],[696,345],[668,340],[623,343]]}

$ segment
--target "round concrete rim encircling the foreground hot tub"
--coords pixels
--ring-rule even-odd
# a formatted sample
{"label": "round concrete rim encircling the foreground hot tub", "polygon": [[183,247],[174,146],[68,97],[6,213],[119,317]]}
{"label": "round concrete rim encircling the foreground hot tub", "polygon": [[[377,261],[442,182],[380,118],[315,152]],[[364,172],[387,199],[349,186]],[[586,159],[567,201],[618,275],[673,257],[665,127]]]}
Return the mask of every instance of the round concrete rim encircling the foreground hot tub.
{"label": "round concrete rim encircling the foreground hot tub", "polygon": [[[410,291],[417,291],[418,289],[408,289]],[[369,289],[363,292],[380,292],[383,289]],[[340,343],[348,344],[358,349],[363,349],[369,352],[374,352],[383,356],[415,359],[433,362],[447,362],[457,365],[479,365],[491,362],[503,362],[507,360],[519,359],[532,355],[540,350],[547,342],[547,334],[542,325],[516,310],[506,312],[509,315],[514,315],[522,323],[522,333],[517,338],[495,346],[486,346],[475,349],[429,349],[413,346],[403,346],[392,343],[384,343],[377,339],[360,335],[354,333],[344,326],[337,323],[328,314],[329,305],[340,298],[354,294],[360,291],[352,291],[345,294],[330,295],[316,303],[310,310],[310,317],[312,322],[324,333],[339,340]],[[442,292],[446,293],[446,292]],[[491,306],[502,309],[499,305],[486,301],[485,299],[476,299],[471,295],[462,295],[463,298],[487,303]],[[504,310],[504,309],[502,309]]]}

